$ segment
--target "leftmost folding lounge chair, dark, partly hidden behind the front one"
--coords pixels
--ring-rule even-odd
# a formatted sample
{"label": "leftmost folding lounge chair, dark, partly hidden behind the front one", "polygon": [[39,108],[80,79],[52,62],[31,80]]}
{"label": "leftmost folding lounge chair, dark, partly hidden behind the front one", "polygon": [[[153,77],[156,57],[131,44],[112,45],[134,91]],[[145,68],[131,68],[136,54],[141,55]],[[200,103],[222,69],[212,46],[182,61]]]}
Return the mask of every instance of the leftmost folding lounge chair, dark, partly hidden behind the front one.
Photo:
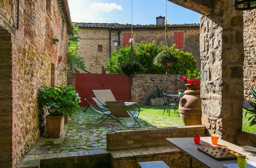
{"label": "leftmost folding lounge chair, dark, partly hidden behind the front one", "polygon": [[[96,120],[96,124],[100,125],[101,123],[103,123],[106,119],[108,118],[112,118],[113,120],[116,120],[114,117],[112,117],[111,112],[106,109],[106,108],[101,108],[100,106],[98,106],[97,104],[92,104],[90,103],[86,98],[84,98],[84,100],[86,100],[86,102],[95,110],[97,111],[99,114],[101,114],[102,116]],[[100,123],[98,123],[101,120]]]}

